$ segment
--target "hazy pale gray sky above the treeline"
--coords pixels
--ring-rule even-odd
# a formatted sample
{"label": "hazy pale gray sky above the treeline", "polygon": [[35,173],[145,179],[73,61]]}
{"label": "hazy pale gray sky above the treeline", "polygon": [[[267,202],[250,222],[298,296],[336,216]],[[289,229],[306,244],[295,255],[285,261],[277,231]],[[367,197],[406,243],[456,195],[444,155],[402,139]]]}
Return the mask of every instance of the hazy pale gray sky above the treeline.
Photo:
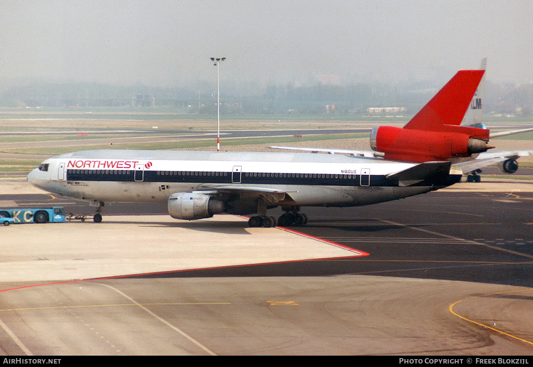
{"label": "hazy pale gray sky above the treeline", "polygon": [[533,2],[0,0],[0,77],[173,85],[477,68],[533,81]]}

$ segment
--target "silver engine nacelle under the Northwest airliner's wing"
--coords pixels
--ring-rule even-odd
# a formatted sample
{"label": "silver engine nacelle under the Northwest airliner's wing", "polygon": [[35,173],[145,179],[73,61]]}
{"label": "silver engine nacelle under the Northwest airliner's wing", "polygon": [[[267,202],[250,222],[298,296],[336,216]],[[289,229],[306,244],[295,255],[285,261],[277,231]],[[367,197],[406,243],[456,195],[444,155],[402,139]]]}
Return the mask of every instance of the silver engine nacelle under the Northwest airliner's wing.
{"label": "silver engine nacelle under the Northwest airliner's wing", "polygon": [[175,219],[210,218],[224,210],[224,202],[205,194],[176,193],[168,198],[168,213]]}

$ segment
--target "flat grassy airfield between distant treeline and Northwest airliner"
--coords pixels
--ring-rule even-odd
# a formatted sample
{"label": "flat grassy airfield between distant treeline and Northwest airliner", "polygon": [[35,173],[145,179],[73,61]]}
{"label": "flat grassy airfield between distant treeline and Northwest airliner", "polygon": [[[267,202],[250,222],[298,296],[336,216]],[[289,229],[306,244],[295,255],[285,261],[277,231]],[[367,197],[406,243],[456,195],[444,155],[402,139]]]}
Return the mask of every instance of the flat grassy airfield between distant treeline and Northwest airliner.
{"label": "flat grassy airfield between distant treeline and Northwest airliner", "polygon": [[[280,115],[280,116],[224,116],[224,130],[268,129],[343,129],[370,128],[379,125],[405,124],[405,117],[361,117],[350,115]],[[504,121],[497,121],[501,127]],[[26,174],[47,156],[77,150],[92,149],[215,149],[213,138],[188,139],[174,137],[173,131],[213,131],[216,116],[199,116],[169,109],[91,109],[88,110],[6,110],[0,109],[0,174]],[[516,123],[516,121],[514,121]],[[525,125],[520,121],[520,125]],[[530,123],[533,126],[533,122]],[[140,133],[139,131],[142,131]],[[83,135],[78,135],[83,133]],[[86,135],[85,135],[86,134]],[[353,147],[347,141],[362,140],[364,146]],[[274,144],[306,144],[306,146],[368,149],[368,134],[313,134],[301,138],[292,136],[266,138],[221,138],[223,149],[263,149]],[[342,141],[339,146],[339,141]],[[518,143],[517,143],[518,141]],[[495,139],[498,149],[533,150],[533,132]],[[318,144],[320,142],[320,144]],[[492,141],[491,141],[492,142]],[[511,146],[507,148],[506,146]],[[520,146],[520,147],[518,147]],[[254,150],[254,149],[252,149]],[[521,162],[533,166],[533,162]],[[506,176],[508,178],[508,176]]]}

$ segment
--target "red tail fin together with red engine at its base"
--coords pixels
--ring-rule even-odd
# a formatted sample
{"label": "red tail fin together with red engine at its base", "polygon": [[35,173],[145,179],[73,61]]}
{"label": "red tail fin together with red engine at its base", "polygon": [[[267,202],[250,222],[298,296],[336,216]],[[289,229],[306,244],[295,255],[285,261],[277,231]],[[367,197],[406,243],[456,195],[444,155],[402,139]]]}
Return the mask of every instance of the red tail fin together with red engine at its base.
{"label": "red tail fin together with red engine at its base", "polygon": [[487,129],[461,126],[484,72],[458,71],[403,129],[372,130],[372,149],[385,153],[385,159],[428,162],[469,157],[492,148]]}

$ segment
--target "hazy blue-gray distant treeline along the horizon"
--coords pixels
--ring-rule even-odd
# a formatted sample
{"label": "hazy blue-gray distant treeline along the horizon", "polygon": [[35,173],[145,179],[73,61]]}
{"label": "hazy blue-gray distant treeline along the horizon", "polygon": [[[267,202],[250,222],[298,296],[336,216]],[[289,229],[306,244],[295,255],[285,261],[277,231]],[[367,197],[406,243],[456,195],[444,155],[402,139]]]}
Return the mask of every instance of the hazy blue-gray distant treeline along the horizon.
{"label": "hazy blue-gray distant treeline along the horizon", "polygon": [[[118,86],[98,83],[44,83],[4,87],[0,107],[172,107],[190,113],[216,113],[216,85],[196,82],[180,87]],[[256,86],[221,82],[222,114],[354,114],[370,108],[397,107],[415,113],[442,85],[435,83],[357,83],[350,85]],[[377,109],[376,109],[377,110]],[[533,84],[494,84],[487,81],[485,113],[529,116],[533,113]]]}

